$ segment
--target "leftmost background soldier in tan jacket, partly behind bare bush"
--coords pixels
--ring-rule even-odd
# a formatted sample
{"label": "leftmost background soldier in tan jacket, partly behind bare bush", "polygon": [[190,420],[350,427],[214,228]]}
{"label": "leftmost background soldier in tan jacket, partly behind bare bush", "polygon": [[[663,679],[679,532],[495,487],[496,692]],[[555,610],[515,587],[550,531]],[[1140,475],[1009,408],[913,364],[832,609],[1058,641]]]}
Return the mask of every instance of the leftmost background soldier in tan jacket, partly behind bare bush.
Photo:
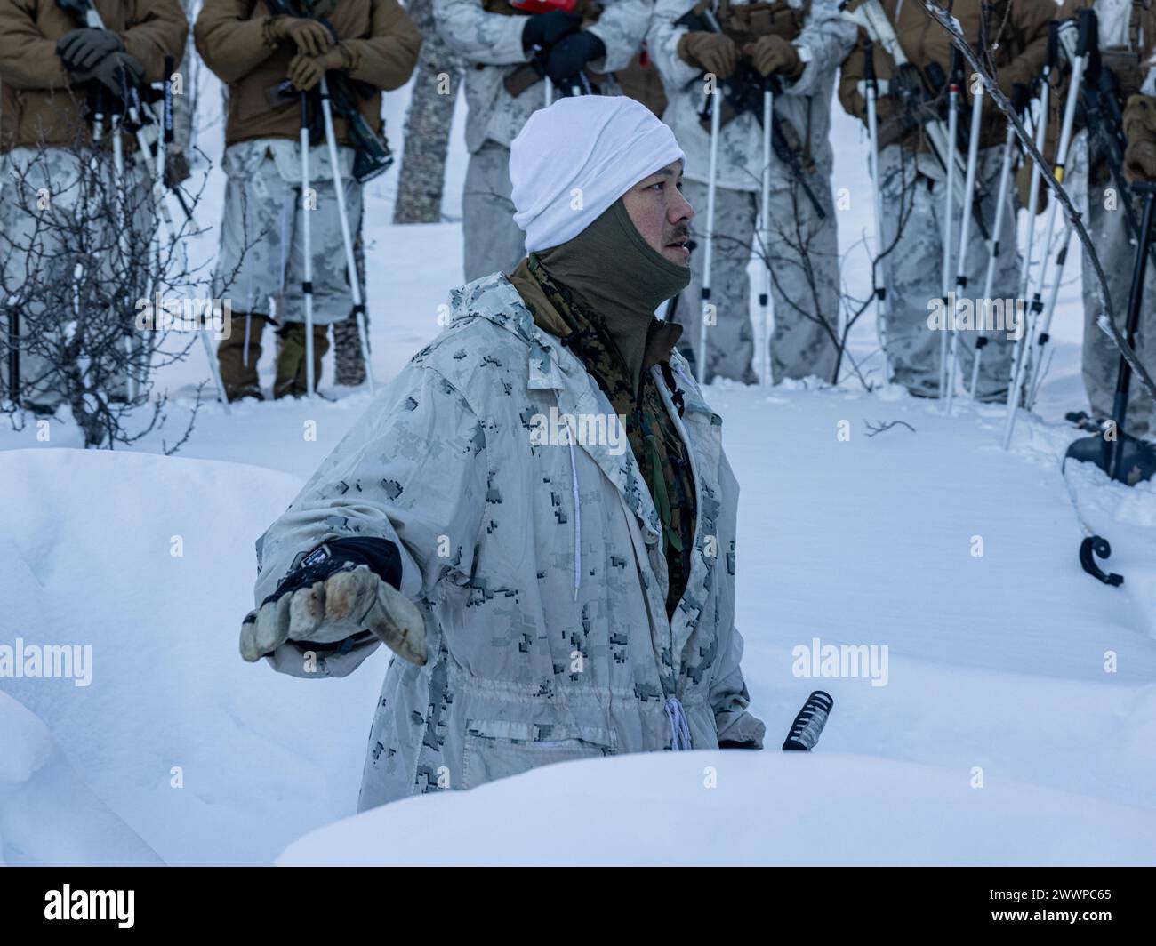
{"label": "leftmost background soldier in tan jacket, partly behind bare bush", "polygon": [[[79,186],[77,161],[92,145],[89,96],[99,89],[106,101],[119,99],[124,83],[138,87],[164,79],[164,59],[180,62],[188,23],[179,0],[95,0],[106,29],[88,28],[54,2],[0,0],[0,164],[3,187],[44,189],[52,201],[75,205],[86,190]],[[110,135],[111,139],[111,135]],[[125,186],[143,186],[142,169],[134,155],[131,134],[123,136]],[[54,246],[62,235],[42,228],[27,213],[27,200],[5,194],[0,201],[0,265],[3,283],[22,284],[30,259],[67,259],[65,247]],[[143,199],[129,199],[143,207]],[[59,204],[58,204],[59,206]],[[95,241],[99,243],[99,241]],[[61,279],[72,279],[69,271]],[[61,313],[61,323],[64,313]],[[9,331],[0,309],[0,332]],[[0,364],[3,390],[10,378],[8,359]],[[62,365],[50,365],[28,350],[20,353],[20,382],[27,405],[39,414],[52,414],[65,399],[52,383]],[[124,400],[124,391],[110,392]]]}

